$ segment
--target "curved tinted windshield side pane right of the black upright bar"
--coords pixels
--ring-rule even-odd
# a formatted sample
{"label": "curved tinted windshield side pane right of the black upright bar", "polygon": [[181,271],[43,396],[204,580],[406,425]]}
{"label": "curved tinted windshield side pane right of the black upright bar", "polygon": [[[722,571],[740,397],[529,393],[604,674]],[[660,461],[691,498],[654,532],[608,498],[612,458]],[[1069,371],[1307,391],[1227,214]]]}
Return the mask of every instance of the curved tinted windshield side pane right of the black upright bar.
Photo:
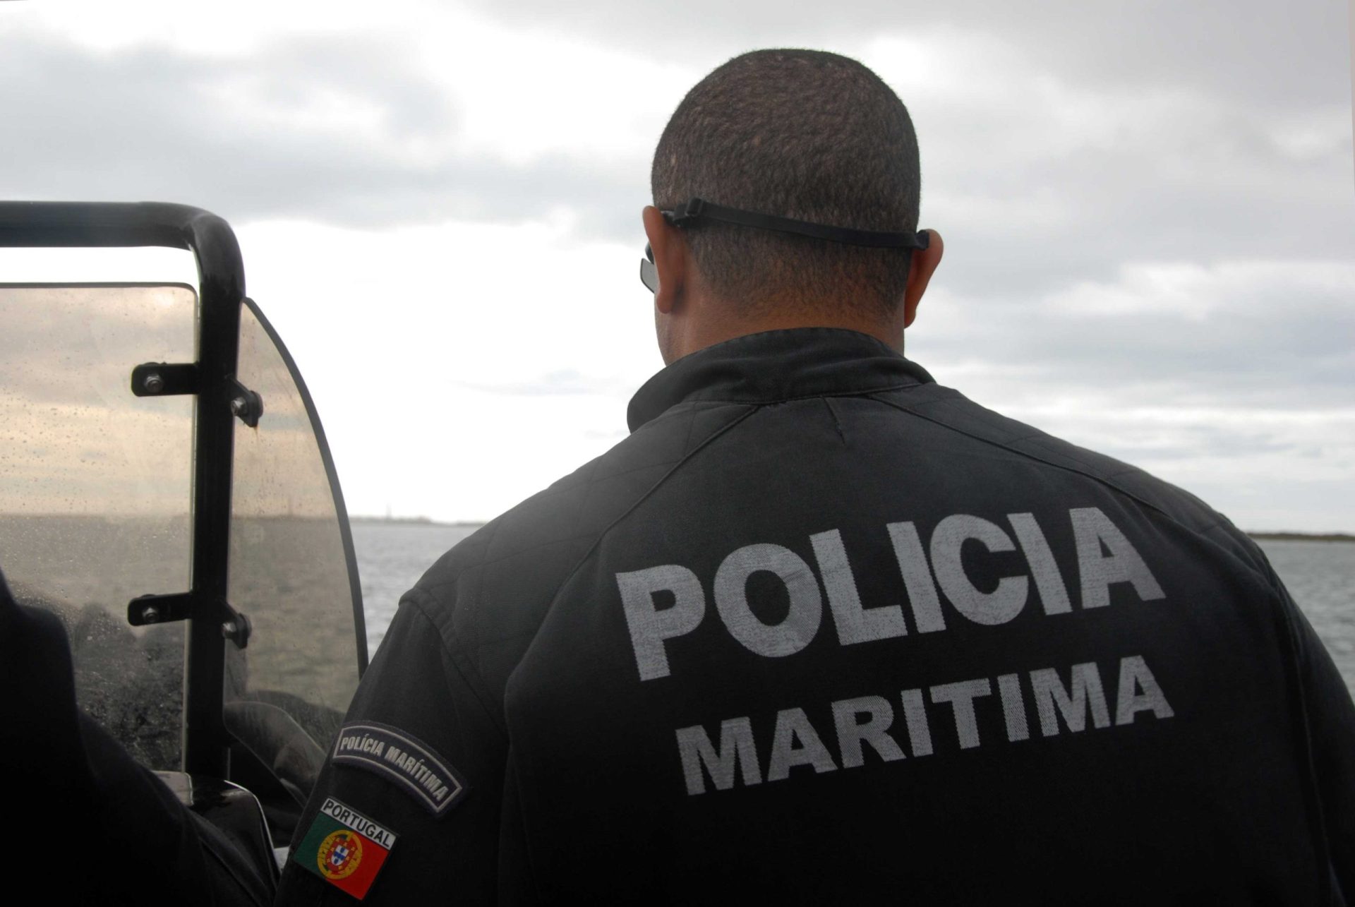
{"label": "curved tinted windshield side pane right of the black upright bar", "polygon": [[[228,648],[226,717],[264,702],[328,747],[358,686],[366,651],[351,541],[327,469],[327,449],[286,348],[257,306],[240,319],[240,384],[263,396],[251,428],[236,422],[228,599],[253,624],[248,648]],[[241,660],[238,655],[244,655]],[[243,670],[241,670],[243,668]]]}

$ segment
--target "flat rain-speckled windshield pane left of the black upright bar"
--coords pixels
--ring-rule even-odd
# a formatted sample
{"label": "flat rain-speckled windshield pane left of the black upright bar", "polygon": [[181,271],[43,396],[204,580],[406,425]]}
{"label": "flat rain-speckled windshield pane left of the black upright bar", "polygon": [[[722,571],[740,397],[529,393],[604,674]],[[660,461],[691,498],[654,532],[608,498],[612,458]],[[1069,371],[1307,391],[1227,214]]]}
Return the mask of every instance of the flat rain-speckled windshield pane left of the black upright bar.
{"label": "flat rain-speckled windshield pane left of the black upright bar", "polygon": [[137,397],[192,362],[183,285],[0,285],[0,568],[65,624],[80,706],[144,765],[180,763],[184,625],[127,602],[188,588],[191,396]]}

